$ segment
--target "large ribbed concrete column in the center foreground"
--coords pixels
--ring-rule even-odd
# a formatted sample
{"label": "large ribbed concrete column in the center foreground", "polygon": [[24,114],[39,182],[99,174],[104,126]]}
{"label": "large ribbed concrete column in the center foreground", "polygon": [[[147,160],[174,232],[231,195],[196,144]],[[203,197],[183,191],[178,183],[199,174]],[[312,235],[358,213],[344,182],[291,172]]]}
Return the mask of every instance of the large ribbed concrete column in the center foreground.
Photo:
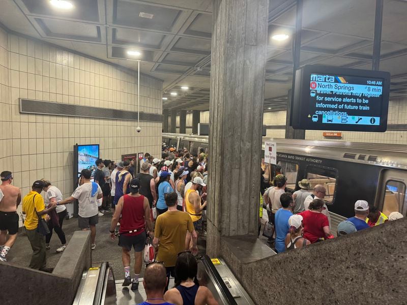
{"label": "large ribbed concrete column in the center foreground", "polygon": [[214,0],[207,253],[257,235],[268,0]]}

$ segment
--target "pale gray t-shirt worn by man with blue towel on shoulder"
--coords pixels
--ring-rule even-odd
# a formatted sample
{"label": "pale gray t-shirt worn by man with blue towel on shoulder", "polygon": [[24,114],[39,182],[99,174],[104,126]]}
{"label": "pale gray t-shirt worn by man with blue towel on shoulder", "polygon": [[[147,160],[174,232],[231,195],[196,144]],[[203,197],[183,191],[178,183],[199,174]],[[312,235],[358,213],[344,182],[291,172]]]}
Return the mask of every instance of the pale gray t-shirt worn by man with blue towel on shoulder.
{"label": "pale gray t-shirt worn by man with blue towel on shoulder", "polygon": [[98,195],[102,194],[102,189],[98,185],[95,196],[92,197],[92,182],[85,183],[73,192],[72,197],[78,199],[79,216],[92,217],[98,214]]}

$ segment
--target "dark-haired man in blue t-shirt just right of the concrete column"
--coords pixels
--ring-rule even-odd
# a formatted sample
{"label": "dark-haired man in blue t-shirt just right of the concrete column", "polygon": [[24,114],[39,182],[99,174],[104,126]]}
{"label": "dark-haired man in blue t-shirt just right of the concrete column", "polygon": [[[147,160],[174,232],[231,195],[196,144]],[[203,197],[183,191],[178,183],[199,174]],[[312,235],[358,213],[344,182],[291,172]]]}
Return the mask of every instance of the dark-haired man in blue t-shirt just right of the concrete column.
{"label": "dark-haired man in blue t-shirt just right of the concrete column", "polygon": [[276,211],[275,230],[276,230],[276,252],[285,251],[285,236],[288,233],[288,219],[293,215],[293,197],[291,193],[283,193],[280,196],[281,208]]}

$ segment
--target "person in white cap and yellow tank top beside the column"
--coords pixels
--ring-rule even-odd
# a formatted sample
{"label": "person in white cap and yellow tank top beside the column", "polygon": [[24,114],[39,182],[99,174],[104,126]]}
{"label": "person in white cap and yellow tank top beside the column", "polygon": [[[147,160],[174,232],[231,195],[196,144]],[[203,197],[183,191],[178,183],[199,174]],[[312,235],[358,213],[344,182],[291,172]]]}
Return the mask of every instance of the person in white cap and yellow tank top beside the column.
{"label": "person in white cap and yellow tank top beside the column", "polygon": [[196,232],[202,230],[202,210],[207,206],[207,202],[201,204],[201,198],[196,192],[202,187],[206,187],[206,184],[203,183],[201,177],[195,177],[192,179],[192,186],[185,194],[185,209],[192,218],[192,223]]}

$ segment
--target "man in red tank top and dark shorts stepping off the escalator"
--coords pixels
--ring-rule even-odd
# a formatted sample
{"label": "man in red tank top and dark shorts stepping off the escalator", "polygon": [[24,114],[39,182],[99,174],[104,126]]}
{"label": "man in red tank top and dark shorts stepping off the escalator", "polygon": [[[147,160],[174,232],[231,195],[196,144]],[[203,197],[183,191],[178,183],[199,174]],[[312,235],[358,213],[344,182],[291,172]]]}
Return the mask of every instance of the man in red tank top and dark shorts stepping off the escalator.
{"label": "man in red tank top and dark shorts stepping off the escalator", "polygon": [[[116,238],[116,228],[120,215],[119,246],[122,247],[122,261],[125,279],[122,286],[131,285],[131,290],[138,289],[138,278],[140,276],[143,260],[143,250],[146,245],[146,229],[153,237],[153,224],[150,219],[150,203],[147,197],[139,194],[141,181],[133,178],[129,184],[130,194],[120,197],[114,211],[110,224],[110,238]],[[144,224],[147,224],[147,228]],[[134,279],[130,277],[130,251],[134,248]]]}

